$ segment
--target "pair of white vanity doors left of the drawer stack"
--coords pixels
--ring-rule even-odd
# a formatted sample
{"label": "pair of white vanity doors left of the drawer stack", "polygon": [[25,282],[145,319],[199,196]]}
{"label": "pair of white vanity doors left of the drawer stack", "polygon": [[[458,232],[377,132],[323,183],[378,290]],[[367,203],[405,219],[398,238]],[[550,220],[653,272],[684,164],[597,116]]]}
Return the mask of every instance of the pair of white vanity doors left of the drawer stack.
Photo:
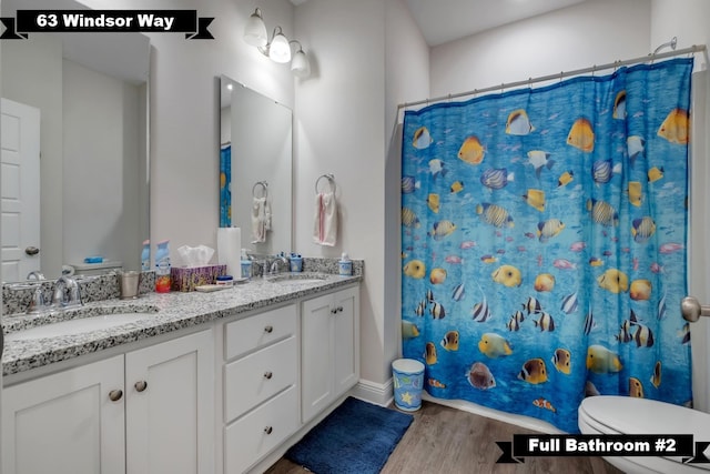
{"label": "pair of white vanity doors left of the drawer stack", "polygon": [[212,330],[2,393],[2,472],[212,473]]}

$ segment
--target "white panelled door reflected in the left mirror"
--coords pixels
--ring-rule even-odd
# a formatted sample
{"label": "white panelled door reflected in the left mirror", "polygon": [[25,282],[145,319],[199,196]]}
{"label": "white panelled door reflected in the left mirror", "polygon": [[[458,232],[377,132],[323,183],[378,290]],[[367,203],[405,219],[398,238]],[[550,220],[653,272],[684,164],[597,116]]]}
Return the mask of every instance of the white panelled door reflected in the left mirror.
{"label": "white panelled door reflected in the left mirror", "polygon": [[1,276],[16,282],[41,269],[40,111],[8,99],[2,99],[0,109]]}

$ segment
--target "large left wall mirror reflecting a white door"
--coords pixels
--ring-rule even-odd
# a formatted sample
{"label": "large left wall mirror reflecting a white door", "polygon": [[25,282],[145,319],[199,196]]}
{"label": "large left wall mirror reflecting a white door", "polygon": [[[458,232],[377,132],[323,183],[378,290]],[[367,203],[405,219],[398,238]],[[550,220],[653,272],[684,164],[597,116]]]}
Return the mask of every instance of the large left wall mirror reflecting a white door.
{"label": "large left wall mirror reflecting a white door", "polygon": [[[1,7],[3,17],[14,17],[47,1]],[[87,9],[72,0],[52,8]],[[93,255],[140,270],[150,235],[150,39],[30,33],[0,48],[2,281],[32,271],[54,279]],[[34,133],[18,132],[36,122]],[[22,158],[33,150],[40,151],[34,168]]]}

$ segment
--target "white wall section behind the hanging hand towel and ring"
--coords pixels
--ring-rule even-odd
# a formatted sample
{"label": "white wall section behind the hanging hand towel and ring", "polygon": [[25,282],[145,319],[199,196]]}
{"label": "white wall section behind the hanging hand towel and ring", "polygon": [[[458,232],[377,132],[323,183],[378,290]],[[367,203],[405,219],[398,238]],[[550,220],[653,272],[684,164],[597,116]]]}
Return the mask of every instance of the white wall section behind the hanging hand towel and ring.
{"label": "white wall section behind the hanging hand towel and ring", "polygon": [[[362,377],[383,382],[385,14],[378,0],[308,0],[295,11],[312,77],[296,84],[295,248],[304,255],[365,260]],[[366,32],[366,33],[365,33]],[[338,242],[313,243],[314,184],[333,173]]]}

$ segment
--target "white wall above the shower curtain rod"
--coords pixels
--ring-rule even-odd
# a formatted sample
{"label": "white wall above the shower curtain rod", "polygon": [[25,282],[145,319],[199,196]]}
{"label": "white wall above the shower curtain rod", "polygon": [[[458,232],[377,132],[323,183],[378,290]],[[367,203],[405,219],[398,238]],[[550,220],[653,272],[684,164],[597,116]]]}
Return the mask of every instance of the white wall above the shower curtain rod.
{"label": "white wall above the shower curtain rod", "polygon": [[432,97],[648,54],[648,0],[595,0],[432,49]]}

